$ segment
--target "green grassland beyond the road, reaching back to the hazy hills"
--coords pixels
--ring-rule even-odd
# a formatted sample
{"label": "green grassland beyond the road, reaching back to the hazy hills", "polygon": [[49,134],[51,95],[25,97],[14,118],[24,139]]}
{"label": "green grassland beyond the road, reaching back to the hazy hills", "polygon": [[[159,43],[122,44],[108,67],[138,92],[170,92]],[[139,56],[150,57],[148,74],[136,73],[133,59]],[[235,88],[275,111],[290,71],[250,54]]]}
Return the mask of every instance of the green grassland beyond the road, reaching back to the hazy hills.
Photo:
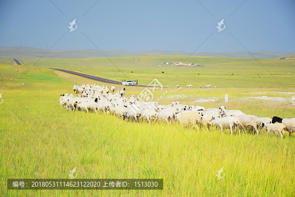
{"label": "green grassland beyond the road, reaching back to the hazy hills", "polygon": [[[148,85],[157,78],[164,86],[218,88],[295,88],[295,60],[241,59],[202,56],[128,56],[82,59],[22,59],[23,64],[66,68],[115,80],[139,80]],[[205,66],[163,65],[165,62]],[[159,66],[161,65],[161,66]],[[131,73],[135,72],[135,73]],[[162,71],[164,73],[162,73]],[[158,72],[158,73],[157,73]],[[167,74],[166,74],[167,73]],[[218,73],[218,74],[217,74]],[[234,73],[234,75],[231,75]],[[290,75],[288,75],[290,73]],[[259,75],[258,75],[259,74]]]}

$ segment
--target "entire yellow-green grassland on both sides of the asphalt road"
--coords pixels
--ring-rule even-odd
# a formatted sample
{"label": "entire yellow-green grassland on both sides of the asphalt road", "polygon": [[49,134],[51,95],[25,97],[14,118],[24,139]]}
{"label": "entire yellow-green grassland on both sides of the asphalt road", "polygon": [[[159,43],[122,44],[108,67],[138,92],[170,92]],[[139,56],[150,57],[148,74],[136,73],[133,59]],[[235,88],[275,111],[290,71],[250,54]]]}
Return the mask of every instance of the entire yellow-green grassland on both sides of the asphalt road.
{"label": "entire yellow-green grassland on both sides of the asphalt road", "polygon": [[[134,78],[146,85],[155,77],[164,86],[190,83],[193,89],[183,88],[178,92],[176,88],[165,88],[156,90],[154,97],[159,98],[163,91],[169,90],[159,100],[160,104],[179,100],[205,107],[225,105],[227,109],[240,109],[259,117],[295,117],[295,105],[287,94],[295,93],[294,60],[259,60],[284,87],[268,76],[255,60],[190,58],[187,62],[206,66],[181,66],[175,73],[176,66],[152,65],[184,62],[186,58],[110,58],[121,72],[106,58],[41,59],[38,62],[22,59],[25,64],[22,66],[14,65],[13,61],[10,65],[0,63],[3,98],[0,104],[0,196],[295,196],[295,134],[289,137],[286,132],[281,139],[278,135],[267,137],[262,130],[259,137],[250,131],[230,136],[229,130],[220,134],[217,128],[197,131],[178,123],[127,122],[113,115],[70,112],[60,108],[59,95],[71,93],[74,83],[97,82],[47,69],[61,67],[116,80]],[[31,66],[35,62],[36,66]],[[171,71],[167,71],[168,68]],[[156,71],[165,71],[167,75]],[[232,72],[235,75],[231,75]],[[292,74],[286,75],[289,72]],[[217,84],[217,88],[197,88],[207,84],[213,87]],[[117,90],[121,87],[116,85]],[[138,95],[143,89],[127,87],[126,96]],[[224,94],[229,95],[228,103],[224,102]],[[253,96],[290,98],[290,101],[247,99]],[[198,98],[215,101],[195,102]],[[78,178],[163,178],[164,190],[6,190],[7,178],[68,178],[69,170],[74,167],[77,167]],[[218,180],[215,174],[221,167],[225,177]]]}

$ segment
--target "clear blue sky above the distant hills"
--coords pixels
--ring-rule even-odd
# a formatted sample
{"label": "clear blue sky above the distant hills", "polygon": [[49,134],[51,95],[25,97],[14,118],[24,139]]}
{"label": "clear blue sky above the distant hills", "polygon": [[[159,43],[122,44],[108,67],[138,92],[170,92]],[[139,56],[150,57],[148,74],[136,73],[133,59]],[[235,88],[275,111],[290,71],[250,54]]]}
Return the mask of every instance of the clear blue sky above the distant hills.
{"label": "clear blue sky above the distant hills", "polygon": [[53,49],[295,52],[295,0],[0,0],[0,46],[21,40]]}

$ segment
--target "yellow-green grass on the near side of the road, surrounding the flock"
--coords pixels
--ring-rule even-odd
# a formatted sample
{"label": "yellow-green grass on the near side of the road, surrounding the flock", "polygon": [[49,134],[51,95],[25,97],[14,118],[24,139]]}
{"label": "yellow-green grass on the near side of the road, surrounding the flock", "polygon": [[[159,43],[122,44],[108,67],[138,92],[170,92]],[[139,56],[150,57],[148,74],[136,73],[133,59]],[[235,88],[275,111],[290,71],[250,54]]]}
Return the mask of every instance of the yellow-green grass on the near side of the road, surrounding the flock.
{"label": "yellow-green grass on the near side of the road, surrounding the flock", "polygon": [[[4,99],[0,104],[0,196],[295,196],[294,135],[266,137],[262,130],[259,137],[250,133],[230,136],[229,130],[220,134],[217,128],[197,131],[178,123],[126,122],[101,113],[70,112],[60,108],[59,95],[71,93],[73,83],[97,82],[37,66],[29,71],[24,67],[0,65],[0,75],[4,74],[0,76]],[[127,87],[126,96],[143,89]],[[222,100],[225,93],[230,98],[264,91],[268,96],[280,96],[273,92],[281,92],[281,88],[165,90],[169,91],[160,104],[170,103],[171,95],[215,97],[220,101],[199,105],[225,105],[260,117],[295,117],[291,102]],[[293,88],[284,90],[295,92]],[[155,98],[163,91],[156,91]],[[163,178],[164,190],[6,190],[7,178],[68,178],[74,167],[78,178]],[[218,180],[215,174],[221,167],[225,177]]]}

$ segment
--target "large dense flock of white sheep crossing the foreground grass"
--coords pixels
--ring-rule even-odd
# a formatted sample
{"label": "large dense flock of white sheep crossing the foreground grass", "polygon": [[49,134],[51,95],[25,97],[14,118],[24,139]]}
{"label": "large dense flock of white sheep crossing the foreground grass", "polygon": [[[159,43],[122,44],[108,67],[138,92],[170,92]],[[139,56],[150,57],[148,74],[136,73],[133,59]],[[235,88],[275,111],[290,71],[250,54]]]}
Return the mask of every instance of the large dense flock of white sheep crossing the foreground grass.
{"label": "large dense flock of white sheep crossing the foreground grass", "polygon": [[248,128],[259,135],[259,129],[264,128],[267,136],[272,132],[273,136],[278,133],[283,137],[285,131],[289,131],[290,135],[295,131],[295,118],[281,119],[276,116],[272,119],[259,118],[255,115],[247,115],[240,110],[227,110],[224,106],[206,109],[203,106],[180,104],[178,101],[168,105],[160,105],[154,101],[141,102],[134,95],[129,99],[124,97],[125,88],[116,92],[116,88],[112,86],[110,93],[107,86],[99,86],[99,84],[74,85],[73,91],[79,96],[60,95],[60,107],[71,111],[85,110],[87,113],[95,111],[96,114],[102,111],[104,114],[114,114],[129,121],[147,120],[150,123],[153,119],[166,121],[168,124],[178,121],[181,125],[193,126],[197,130],[204,126],[209,131],[209,127],[215,125],[220,128],[221,133],[223,128],[229,128],[231,134],[236,129],[240,133],[240,128],[244,131]]}

